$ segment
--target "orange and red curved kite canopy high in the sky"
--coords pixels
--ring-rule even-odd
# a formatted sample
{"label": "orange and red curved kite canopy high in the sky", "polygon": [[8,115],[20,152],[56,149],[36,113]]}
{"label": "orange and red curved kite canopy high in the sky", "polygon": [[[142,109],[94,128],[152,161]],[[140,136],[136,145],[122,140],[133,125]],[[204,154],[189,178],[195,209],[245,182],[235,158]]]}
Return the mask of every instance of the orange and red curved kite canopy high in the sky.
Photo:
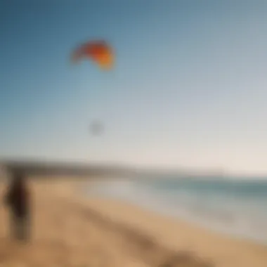
{"label": "orange and red curved kite canopy high in the sky", "polygon": [[114,64],[114,53],[105,41],[89,41],[74,49],[72,61],[76,63],[83,58],[93,60],[103,70],[110,70]]}

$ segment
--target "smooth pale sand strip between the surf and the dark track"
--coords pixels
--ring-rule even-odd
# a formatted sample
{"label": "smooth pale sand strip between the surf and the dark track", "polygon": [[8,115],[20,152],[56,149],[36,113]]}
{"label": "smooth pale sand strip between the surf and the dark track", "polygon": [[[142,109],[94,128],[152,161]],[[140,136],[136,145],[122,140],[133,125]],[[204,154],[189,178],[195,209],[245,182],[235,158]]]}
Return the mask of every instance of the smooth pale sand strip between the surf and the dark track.
{"label": "smooth pale sand strip between the surf and the dark track", "polygon": [[[117,224],[130,226],[138,233],[150,236],[157,244],[171,251],[193,252],[214,266],[266,266],[267,246],[253,240],[223,235],[217,231],[171,216],[163,216],[122,200],[92,197],[85,207],[105,214]],[[257,265],[258,264],[258,265]]]}

